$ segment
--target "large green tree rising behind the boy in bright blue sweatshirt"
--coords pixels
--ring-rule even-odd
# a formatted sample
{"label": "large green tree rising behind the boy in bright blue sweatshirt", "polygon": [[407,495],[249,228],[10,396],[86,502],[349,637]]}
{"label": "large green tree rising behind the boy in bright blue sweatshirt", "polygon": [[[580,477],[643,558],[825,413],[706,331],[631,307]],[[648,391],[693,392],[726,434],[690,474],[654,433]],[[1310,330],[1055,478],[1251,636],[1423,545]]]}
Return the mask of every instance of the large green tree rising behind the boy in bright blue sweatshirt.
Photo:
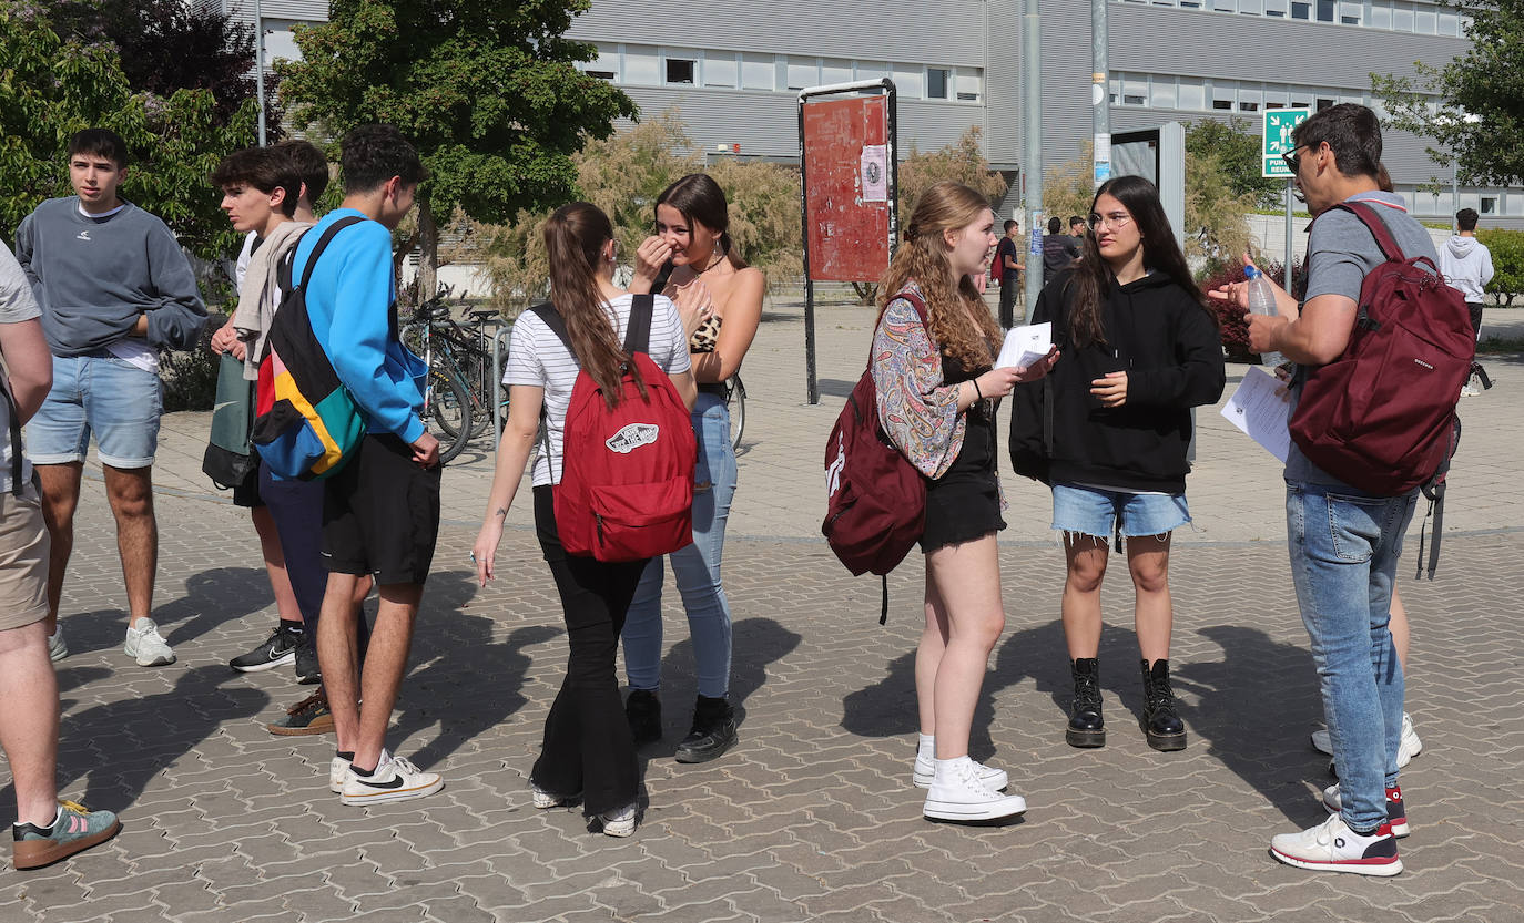
{"label": "large green tree rising behind the boy in bright blue sweatshirt", "polygon": [[329,137],[392,123],[428,168],[398,253],[421,250],[421,291],[434,291],[440,216],[507,221],[575,198],[572,155],[636,116],[576,69],[594,46],[562,38],[590,2],[334,0],[328,23],[293,29],[302,59],[277,67],[291,120]]}

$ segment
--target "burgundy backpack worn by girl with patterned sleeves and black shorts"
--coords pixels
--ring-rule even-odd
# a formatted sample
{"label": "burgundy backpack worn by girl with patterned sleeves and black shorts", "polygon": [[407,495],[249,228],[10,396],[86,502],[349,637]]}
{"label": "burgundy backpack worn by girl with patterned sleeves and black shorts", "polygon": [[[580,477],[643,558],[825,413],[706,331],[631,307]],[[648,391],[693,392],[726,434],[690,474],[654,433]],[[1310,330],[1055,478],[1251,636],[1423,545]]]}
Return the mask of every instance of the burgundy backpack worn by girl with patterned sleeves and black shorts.
{"label": "burgundy backpack worn by girl with patterned sleeves and black shorts", "polygon": [[[927,305],[901,291],[931,329]],[[878,419],[878,388],[873,359],[847,396],[837,425],[826,440],[826,542],[852,576],[884,577],[884,606],[878,623],[888,618],[888,571],[895,570],[920,538],[927,521],[927,478],[888,440]]]}

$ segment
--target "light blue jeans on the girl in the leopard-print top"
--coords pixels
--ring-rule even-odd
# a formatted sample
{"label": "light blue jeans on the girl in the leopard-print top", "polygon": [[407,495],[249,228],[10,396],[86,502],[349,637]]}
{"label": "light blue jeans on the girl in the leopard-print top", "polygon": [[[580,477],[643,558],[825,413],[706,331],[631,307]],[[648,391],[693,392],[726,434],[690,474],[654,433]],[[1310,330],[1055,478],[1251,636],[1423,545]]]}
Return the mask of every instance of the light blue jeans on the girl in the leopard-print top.
{"label": "light blue jeans on the girl in the leopard-print top", "polygon": [[[736,492],[736,451],[730,445],[730,410],[716,394],[693,404],[698,465],[693,468],[693,544],[668,554],[677,589],[687,609],[693,638],[698,695],[712,699],[730,691],[730,602],[719,583],[725,519]],[[625,675],[631,688],[661,685],[661,559],[652,557],[640,576],[625,620]]]}

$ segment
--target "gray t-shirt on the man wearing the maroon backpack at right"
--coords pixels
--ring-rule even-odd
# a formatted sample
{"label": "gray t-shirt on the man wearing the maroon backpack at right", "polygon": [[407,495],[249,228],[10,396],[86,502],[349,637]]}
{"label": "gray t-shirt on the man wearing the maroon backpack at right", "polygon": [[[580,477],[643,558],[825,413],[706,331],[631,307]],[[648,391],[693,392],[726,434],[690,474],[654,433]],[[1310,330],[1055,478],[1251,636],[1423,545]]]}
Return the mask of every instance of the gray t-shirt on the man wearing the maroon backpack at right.
{"label": "gray t-shirt on the man wearing the maroon backpack at right", "polygon": [[[1408,215],[1402,198],[1390,192],[1358,192],[1347,201],[1370,203],[1376,207],[1376,215],[1387,224],[1387,230],[1402,247],[1407,257],[1426,256],[1439,265],[1439,254],[1434,250],[1434,239],[1428,230]],[[1370,230],[1349,212],[1335,210],[1320,215],[1312,222],[1312,235],[1308,241],[1308,300],[1318,295],[1344,295],[1359,302],[1359,288],[1366,282],[1366,274],[1385,262],[1381,247]],[[1301,381],[1291,387],[1291,411],[1295,413],[1301,399]],[[1344,481],[1327,474],[1312,462],[1308,462],[1297,443],[1291,443],[1286,454],[1286,480],[1305,481],[1311,484],[1332,484],[1355,490]]]}

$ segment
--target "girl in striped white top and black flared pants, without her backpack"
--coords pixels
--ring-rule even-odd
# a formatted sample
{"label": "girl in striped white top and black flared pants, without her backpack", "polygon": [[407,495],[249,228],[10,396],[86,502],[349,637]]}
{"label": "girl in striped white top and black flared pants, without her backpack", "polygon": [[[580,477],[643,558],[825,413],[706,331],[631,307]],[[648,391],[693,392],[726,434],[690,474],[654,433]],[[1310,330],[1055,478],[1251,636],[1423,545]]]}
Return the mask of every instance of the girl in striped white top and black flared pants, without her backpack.
{"label": "girl in striped white top and black flared pants, without her backpack", "polygon": [[544,238],[550,256],[550,303],[564,324],[565,341],[536,311],[526,311],[514,323],[503,375],[511,398],[507,426],[498,442],[486,516],[471,557],[485,586],[495,576],[503,521],[543,419],[546,436],[533,469],[535,530],[561,594],[572,655],[561,691],[546,717],[539,759],[529,775],[533,804],[556,807],[581,798],[582,810],[599,819],[604,833],[629,836],[636,832],[640,778],[619,701],[614,655],[646,559],[607,562],[568,553],[556,527],[552,487],[562,480],[562,434],[579,373],[585,372],[605,399],[616,404],[626,367],[636,370],[642,393],[655,388],[658,382],[639,379],[639,364],[622,347],[626,329],[632,323],[639,326],[640,318],[632,321],[632,314],[649,311],[646,355],[666,372],[692,408],[696,391],[687,338],[704,312],[696,297],[684,299],[686,323],[672,300],[661,295],[649,308],[637,308],[636,295],[614,285],[614,228],[608,216],[588,203],[556,209],[546,222]]}

